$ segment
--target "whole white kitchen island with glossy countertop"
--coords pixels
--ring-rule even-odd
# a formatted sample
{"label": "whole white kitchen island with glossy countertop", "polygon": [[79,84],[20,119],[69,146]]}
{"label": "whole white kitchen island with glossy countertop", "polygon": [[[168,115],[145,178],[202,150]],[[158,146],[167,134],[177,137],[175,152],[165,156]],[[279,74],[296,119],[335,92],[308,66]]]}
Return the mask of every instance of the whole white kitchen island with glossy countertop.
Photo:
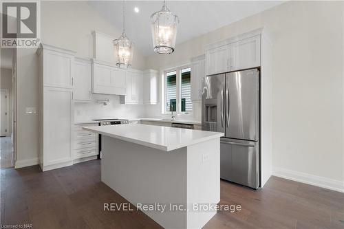
{"label": "whole white kitchen island with glossy countertop", "polygon": [[137,207],[165,206],[139,208],[164,228],[202,228],[215,215],[208,207],[220,198],[223,133],[145,124],[83,129],[102,135],[102,182]]}

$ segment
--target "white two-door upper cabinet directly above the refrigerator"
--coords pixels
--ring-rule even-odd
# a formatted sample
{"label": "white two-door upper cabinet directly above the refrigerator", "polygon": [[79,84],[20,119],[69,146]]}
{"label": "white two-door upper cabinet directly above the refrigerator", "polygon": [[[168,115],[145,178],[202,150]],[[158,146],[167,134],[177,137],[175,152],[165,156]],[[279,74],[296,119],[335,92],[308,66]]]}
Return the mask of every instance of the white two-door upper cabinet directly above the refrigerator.
{"label": "white two-door upper cabinet directly above the refrigerator", "polygon": [[206,47],[206,75],[259,67],[260,34],[244,34]]}

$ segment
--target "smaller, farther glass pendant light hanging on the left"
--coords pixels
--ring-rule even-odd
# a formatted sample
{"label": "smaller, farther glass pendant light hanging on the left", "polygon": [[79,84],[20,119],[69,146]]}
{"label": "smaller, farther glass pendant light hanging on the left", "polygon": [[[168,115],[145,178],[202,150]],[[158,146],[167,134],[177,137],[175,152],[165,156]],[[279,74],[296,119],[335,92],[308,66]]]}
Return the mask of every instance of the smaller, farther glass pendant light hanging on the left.
{"label": "smaller, farther glass pendant light hanging on the left", "polygon": [[131,67],[133,60],[133,43],[125,34],[125,1],[123,0],[123,31],[120,37],[114,40],[115,56],[118,67]]}

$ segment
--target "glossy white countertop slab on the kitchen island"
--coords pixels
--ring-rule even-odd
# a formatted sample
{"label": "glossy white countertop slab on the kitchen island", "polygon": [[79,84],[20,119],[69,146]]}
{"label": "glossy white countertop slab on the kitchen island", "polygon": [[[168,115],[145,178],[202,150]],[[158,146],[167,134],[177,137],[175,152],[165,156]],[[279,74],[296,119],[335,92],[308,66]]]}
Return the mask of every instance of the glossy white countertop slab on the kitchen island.
{"label": "glossy white countertop slab on the kitchen island", "polygon": [[218,132],[151,126],[147,124],[120,124],[83,127],[83,129],[162,151],[173,151],[185,146],[220,138],[224,135],[224,133]]}

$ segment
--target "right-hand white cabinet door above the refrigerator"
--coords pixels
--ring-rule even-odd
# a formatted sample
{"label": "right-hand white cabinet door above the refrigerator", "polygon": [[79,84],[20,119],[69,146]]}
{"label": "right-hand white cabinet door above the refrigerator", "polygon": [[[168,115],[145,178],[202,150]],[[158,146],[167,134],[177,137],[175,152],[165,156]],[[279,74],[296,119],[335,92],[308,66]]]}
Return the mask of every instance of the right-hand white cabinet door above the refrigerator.
{"label": "right-hand white cabinet door above the refrigerator", "polygon": [[260,36],[230,44],[230,71],[260,66]]}

